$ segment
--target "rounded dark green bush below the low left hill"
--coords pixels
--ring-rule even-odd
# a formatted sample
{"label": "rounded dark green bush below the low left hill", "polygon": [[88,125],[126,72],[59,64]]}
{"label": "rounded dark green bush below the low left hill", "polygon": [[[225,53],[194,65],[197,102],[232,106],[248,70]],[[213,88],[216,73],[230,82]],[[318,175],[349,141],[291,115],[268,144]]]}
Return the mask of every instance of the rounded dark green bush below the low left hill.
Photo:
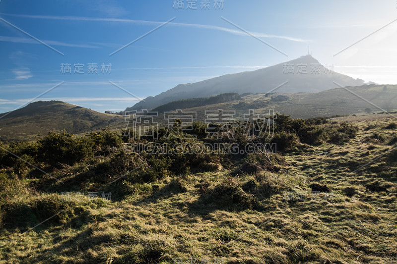
{"label": "rounded dark green bush below the low left hill", "polygon": [[86,138],[77,138],[65,131],[49,132],[39,140],[38,155],[50,165],[72,165],[92,155],[92,145]]}

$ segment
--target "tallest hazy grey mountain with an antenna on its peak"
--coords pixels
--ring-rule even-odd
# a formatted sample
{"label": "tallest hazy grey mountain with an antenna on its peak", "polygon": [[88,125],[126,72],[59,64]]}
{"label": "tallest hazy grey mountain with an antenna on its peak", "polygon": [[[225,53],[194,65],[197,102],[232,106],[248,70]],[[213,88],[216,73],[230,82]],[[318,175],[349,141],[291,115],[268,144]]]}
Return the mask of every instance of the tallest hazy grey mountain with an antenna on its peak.
{"label": "tallest hazy grey mountain with an antenna on its peak", "polygon": [[[306,66],[306,74],[302,68]],[[364,81],[328,71],[311,55],[283,62],[263,69],[227,74],[193,84],[180,84],[155,97],[147,97],[143,101],[128,107],[126,111],[153,109],[172,101],[208,97],[223,93],[266,93],[276,89],[278,93],[316,93],[335,88],[333,81],[342,86],[359,86]],[[288,69],[292,72],[288,72]],[[301,69],[301,71],[299,71]],[[317,69],[317,71],[312,71]]]}

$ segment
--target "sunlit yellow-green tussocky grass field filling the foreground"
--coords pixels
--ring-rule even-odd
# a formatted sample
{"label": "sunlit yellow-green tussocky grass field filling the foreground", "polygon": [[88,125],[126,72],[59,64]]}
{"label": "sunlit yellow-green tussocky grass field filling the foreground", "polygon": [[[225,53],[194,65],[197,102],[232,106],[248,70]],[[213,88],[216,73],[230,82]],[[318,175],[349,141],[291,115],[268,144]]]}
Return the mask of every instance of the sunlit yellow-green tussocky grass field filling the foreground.
{"label": "sunlit yellow-green tussocky grass field filling the foreground", "polygon": [[[396,120],[331,119],[345,121],[358,126],[345,143],[211,156],[183,173],[123,147],[41,163],[62,183],[3,166],[0,263],[395,264]],[[102,191],[112,200],[87,196]]]}

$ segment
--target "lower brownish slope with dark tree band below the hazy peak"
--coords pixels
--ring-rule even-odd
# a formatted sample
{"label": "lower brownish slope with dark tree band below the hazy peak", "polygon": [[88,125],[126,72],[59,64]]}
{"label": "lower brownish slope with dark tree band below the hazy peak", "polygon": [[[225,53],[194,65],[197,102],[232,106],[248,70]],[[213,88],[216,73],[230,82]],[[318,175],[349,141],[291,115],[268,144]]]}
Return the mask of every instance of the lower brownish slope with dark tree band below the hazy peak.
{"label": "lower brownish slope with dark tree band below the hazy peak", "polygon": [[[174,104],[179,105],[179,102],[176,101]],[[195,117],[201,122],[208,118],[205,111],[216,111],[218,109],[233,111],[233,118],[236,121],[243,120],[244,115],[247,115],[250,109],[258,114],[268,114],[269,110],[274,110],[277,113],[290,115],[292,118],[304,119],[352,114],[358,117],[368,112],[380,113],[383,111],[395,115],[397,113],[397,85],[365,84],[355,87],[334,88],[318,93],[249,94],[242,95],[240,99],[230,102],[202,106],[192,104],[188,108],[177,108],[182,108],[187,113],[196,112]],[[173,111],[175,109],[174,107]],[[153,118],[153,121],[158,123],[160,127],[167,125],[167,120],[161,111],[159,111],[157,117]]]}

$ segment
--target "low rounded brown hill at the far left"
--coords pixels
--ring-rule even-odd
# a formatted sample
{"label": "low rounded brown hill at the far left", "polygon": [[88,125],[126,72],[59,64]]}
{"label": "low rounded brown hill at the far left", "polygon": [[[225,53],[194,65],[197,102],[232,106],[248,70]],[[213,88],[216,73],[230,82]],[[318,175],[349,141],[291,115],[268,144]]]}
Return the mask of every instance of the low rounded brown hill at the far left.
{"label": "low rounded brown hill at the far left", "polygon": [[61,101],[39,101],[0,114],[0,140],[34,140],[37,134],[65,129],[72,134],[124,125],[124,117],[105,114]]}

